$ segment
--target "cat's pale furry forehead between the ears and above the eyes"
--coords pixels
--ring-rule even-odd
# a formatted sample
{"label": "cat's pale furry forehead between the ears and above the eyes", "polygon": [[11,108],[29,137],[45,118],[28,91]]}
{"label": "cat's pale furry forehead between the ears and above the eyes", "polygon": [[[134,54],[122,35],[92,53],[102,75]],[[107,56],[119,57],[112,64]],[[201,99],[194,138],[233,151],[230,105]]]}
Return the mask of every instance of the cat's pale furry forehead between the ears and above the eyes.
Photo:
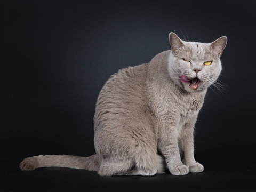
{"label": "cat's pale furry forehead between the ears and above the eyes", "polygon": [[179,51],[179,57],[191,61],[211,61],[217,59],[217,55],[210,49],[210,43],[183,42],[185,46]]}

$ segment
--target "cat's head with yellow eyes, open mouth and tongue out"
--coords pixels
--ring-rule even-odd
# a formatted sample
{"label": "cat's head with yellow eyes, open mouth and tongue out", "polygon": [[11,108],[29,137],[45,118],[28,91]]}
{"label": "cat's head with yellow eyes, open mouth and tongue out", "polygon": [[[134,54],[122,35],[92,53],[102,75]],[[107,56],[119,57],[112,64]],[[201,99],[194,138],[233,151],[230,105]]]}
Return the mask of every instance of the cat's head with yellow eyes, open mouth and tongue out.
{"label": "cat's head with yellow eyes, open mouth and tongue out", "polygon": [[202,91],[219,77],[220,56],[227,37],[212,43],[185,42],[176,34],[169,35],[171,53],[168,71],[173,81],[188,92]]}

